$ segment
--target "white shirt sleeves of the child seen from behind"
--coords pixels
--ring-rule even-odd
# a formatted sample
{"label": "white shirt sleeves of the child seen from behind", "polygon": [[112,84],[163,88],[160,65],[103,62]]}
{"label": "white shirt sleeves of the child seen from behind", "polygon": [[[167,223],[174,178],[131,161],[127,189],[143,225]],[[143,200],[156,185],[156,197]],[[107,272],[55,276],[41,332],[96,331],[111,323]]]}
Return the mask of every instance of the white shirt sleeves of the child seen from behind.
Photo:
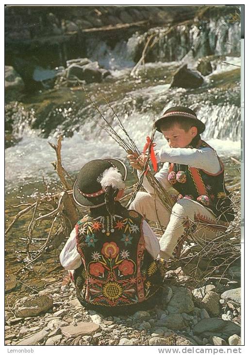
{"label": "white shirt sleeves of the child seen from behind", "polygon": [[[159,241],[155,233],[149,227],[149,224],[143,220],[142,224],[145,248],[152,256],[153,259],[156,259],[160,252]],[[70,237],[67,239],[67,242],[60,253],[60,262],[61,265],[66,270],[74,270],[81,266],[81,256],[77,251],[76,247],[76,230],[75,228],[71,231]]]}

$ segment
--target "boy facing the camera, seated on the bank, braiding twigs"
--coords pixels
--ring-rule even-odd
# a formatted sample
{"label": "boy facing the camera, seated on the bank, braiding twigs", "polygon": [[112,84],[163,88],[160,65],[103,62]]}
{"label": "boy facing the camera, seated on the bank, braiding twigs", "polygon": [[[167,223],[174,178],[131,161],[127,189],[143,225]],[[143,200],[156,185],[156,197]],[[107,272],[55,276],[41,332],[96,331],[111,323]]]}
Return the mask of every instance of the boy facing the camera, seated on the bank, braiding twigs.
{"label": "boy facing the camera, seated on the bank, braiding twigs", "polygon": [[[224,167],[216,151],[200,139],[205,130],[196,113],[188,107],[167,109],[156,121],[169,148],[156,152],[157,162],[165,162],[155,177],[167,190],[173,187],[176,203],[171,213],[163,206],[146,177],[143,186],[147,193],[136,195],[131,209],[150,221],[166,226],[160,240],[160,256],[166,260],[180,257],[183,242],[190,233],[199,243],[214,239],[224,232],[234,218],[231,200],[224,183]],[[139,169],[145,155],[128,155],[133,168]],[[138,171],[138,177],[140,176]]]}

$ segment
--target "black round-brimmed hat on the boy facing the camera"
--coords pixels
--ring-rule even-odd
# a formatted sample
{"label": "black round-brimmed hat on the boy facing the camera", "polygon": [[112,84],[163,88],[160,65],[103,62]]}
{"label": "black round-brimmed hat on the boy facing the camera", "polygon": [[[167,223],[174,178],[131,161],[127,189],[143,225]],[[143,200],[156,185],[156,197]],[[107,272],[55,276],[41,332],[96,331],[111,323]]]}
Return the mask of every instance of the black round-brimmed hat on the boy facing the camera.
{"label": "black round-brimmed hat on the boy facing the camera", "polygon": [[198,133],[204,132],[206,126],[203,122],[201,122],[198,118],[196,113],[191,110],[191,108],[188,107],[183,107],[183,106],[173,106],[168,108],[162,117],[160,117],[155,125],[156,125],[156,130],[161,132],[161,124],[164,120],[172,120],[174,118],[181,118],[181,119],[190,119],[193,121],[193,125],[195,125],[198,129]]}

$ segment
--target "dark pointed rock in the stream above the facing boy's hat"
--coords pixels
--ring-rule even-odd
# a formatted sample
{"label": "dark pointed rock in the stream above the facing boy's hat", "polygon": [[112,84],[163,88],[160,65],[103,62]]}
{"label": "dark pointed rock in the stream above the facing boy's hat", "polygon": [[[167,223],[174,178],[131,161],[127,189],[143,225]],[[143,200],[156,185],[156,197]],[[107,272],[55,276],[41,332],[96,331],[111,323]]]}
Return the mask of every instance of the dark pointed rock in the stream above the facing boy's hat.
{"label": "dark pointed rock in the stream above the facing boy's hat", "polygon": [[174,74],[170,88],[199,88],[204,82],[197,71],[187,69],[187,64],[181,66]]}

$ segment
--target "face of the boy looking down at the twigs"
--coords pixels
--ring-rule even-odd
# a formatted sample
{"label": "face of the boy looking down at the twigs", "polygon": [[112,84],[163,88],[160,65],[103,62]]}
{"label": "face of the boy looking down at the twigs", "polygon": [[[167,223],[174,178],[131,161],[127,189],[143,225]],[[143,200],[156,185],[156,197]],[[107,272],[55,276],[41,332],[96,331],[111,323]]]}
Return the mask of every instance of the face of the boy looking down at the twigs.
{"label": "face of the boy looking down at the twigs", "polygon": [[162,133],[170,148],[185,148],[195,138],[198,130],[197,127],[193,126],[185,132],[180,124],[174,124],[172,127],[162,130]]}

